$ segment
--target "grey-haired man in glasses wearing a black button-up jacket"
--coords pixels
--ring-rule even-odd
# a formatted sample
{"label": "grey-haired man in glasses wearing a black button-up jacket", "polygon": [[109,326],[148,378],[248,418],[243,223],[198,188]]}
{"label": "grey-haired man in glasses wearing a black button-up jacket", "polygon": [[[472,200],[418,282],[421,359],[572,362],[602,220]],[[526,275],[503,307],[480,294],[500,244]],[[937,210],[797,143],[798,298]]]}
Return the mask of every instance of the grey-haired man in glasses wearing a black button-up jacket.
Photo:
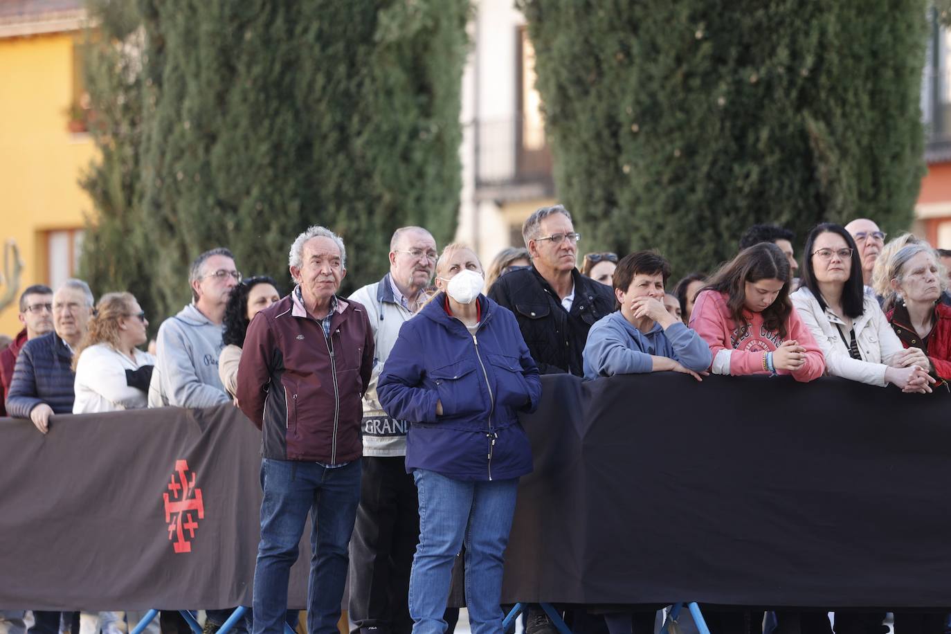
{"label": "grey-haired man in glasses wearing a black button-up jacket", "polygon": [[592,324],[614,310],[611,288],[575,268],[572,215],[560,204],[542,207],[522,225],[532,266],[495,281],[489,297],[515,314],[543,375],[583,376],[581,352]]}

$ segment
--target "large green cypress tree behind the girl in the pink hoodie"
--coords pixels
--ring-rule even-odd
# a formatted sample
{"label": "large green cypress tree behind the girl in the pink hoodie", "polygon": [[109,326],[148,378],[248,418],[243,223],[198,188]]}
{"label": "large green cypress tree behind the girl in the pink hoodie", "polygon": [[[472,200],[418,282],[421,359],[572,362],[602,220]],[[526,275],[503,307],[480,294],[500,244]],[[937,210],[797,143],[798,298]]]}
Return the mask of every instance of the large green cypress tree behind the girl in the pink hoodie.
{"label": "large green cypress tree behind the girl in the pink hoodie", "polygon": [[679,275],[754,222],[802,244],[818,221],[912,220],[924,0],[518,4],[585,250],[656,247]]}

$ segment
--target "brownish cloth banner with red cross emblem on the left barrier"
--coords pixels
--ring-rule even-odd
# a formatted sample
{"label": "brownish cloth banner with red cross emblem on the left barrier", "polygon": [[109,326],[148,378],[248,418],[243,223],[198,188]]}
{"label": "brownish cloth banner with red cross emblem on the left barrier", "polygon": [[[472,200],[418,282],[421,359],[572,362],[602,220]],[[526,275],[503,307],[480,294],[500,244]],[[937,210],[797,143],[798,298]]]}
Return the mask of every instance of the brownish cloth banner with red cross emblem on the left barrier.
{"label": "brownish cloth banner with red cross emblem on the left barrier", "polygon": [[[0,419],[0,607],[251,605],[261,432],[230,405]],[[304,607],[309,521],[289,603]]]}

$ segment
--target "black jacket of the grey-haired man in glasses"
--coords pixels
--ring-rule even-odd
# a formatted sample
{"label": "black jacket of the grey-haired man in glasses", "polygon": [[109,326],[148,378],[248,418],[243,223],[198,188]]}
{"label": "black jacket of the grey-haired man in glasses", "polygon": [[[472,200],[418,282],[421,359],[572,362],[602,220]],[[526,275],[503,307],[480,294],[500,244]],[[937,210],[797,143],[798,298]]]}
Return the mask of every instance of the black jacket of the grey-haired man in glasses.
{"label": "black jacket of the grey-haired man in glasses", "polygon": [[571,373],[583,376],[581,353],[592,324],[613,312],[611,288],[587,278],[577,270],[572,310],[534,266],[513,271],[495,280],[489,297],[515,314],[525,343],[543,375]]}

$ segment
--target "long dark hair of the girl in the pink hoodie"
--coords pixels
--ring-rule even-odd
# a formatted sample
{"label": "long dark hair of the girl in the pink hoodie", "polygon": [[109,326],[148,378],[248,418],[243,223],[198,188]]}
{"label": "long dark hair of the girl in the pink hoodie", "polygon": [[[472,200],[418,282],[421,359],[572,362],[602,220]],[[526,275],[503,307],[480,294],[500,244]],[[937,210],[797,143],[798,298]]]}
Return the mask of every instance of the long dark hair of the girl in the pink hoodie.
{"label": "long dark hair of the girl in the pink hoodie", "polygon": [[761,279],[779,279],[783,282],[776,300],[761,313],[763,325],[786,338],[786,321],[792,313],[789,299],[789,260],[772,242],[759,242],[747,247],[714,273],[703,290],[727,294],[727,307],[737,327],[746,323],[746,283]]}

